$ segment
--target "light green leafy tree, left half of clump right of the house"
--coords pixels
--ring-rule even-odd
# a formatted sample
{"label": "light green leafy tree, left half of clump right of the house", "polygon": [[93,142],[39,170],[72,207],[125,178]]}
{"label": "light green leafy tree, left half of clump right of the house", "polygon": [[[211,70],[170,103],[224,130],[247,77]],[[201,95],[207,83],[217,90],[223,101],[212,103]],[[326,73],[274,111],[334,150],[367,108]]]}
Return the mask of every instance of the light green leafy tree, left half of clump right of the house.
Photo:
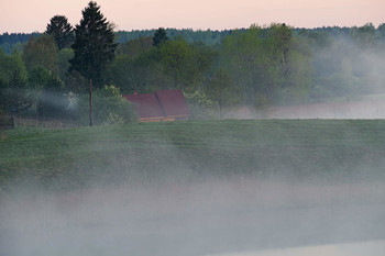
{"label": "light green leafy tree, left half of clump right of the house", "polygon": [[277,87],[279,60],[271,45],[263,29],[256,25],[238,31],[223,42],[223,59],[238,82],[243,104],[261,104],[257,99],[261,96],[271,99]]}

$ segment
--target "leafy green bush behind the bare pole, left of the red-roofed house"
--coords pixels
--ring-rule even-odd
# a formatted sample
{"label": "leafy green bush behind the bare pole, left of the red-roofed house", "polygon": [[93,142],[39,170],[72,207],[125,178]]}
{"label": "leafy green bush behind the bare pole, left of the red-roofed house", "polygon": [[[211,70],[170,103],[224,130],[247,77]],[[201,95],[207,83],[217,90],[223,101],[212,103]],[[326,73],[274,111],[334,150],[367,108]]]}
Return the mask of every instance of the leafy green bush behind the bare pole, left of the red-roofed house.
{"label": "leafy green bush behind the bare pole, left of the red-roofed house", "polygon": [[[94,93],[95,124],[129,123],[138,120],[134,105],[122,98],[120,90],[114,86],[105,86]],[[78,98],[75,116],[80,124],[88,121],[88,96]]]}

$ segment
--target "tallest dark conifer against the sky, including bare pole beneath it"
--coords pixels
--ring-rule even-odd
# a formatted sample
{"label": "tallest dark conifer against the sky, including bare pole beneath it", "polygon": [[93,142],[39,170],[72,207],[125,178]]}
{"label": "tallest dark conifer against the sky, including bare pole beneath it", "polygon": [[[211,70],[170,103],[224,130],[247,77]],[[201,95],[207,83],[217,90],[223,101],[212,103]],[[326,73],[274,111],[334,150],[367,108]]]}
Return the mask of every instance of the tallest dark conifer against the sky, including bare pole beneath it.
{"label": "tallest dark conifer against the sky, including bare pole beneath it", "polygon": [[89,125],[92,119],[92,85],[101,85],[101,73],[113,59],[118,44],[114,43],[113,27],[100,12],[100,7],[90,1],[82,11],[82,19],[75,27],[74,58],[70,70],[79,71],[89,80]]}

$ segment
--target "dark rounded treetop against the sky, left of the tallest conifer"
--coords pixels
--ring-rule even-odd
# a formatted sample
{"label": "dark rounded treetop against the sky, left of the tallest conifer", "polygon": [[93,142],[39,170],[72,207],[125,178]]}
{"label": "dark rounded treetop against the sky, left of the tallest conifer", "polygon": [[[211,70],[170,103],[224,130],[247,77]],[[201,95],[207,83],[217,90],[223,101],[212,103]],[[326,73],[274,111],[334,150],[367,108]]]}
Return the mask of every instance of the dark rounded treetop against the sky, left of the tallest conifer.
{"label": "dark rounded treetop against the sky, left of the tallest conifer", "polygon": [[58,49],[69,47],[74,43],[73,26],[63,15],[51,18],[45,34],[54,36]]}

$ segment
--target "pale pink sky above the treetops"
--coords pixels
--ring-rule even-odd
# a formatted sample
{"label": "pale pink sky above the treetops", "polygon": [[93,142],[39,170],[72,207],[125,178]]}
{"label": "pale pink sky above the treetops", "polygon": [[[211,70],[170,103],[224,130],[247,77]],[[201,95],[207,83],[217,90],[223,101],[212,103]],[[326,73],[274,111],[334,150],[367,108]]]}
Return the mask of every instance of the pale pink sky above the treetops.
{"label": "pale pink sky above the treetops", "polygon": [[[0,0],[0,33],[44,32],[54,15],[74,25],[89,0]],[[98,0],[117,30],[224,30],[285,22],[295,27],[385,23],[385,0]]]}

